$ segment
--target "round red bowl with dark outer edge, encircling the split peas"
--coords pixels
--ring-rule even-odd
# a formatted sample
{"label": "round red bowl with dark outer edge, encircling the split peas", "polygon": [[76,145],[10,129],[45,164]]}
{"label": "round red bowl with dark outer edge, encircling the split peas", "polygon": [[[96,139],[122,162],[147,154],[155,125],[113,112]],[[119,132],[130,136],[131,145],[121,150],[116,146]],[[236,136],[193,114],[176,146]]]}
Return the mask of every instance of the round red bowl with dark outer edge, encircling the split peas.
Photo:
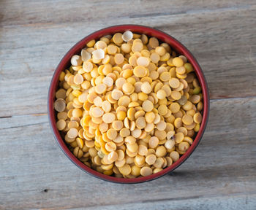
{"label": "round red bowl with dark outer edge, encircling the split peas", "polygon": [[[181,55],[185,55],[187,57],[187,60],[192,64],[192,66],[195,69],[195,73],[197,74],[197,79],[200,82],[202,92],[203,92],[203,120],[200,125],[200,131],[197,133],[197,136],[195,137],[195,140],[191,147],[187,150],[187,152],[181,156],[181,158],[176,162],[173,163],[173,165],[165,168],[164,170],[158,172],[157,174],[152,174],[150,176],[145,177],[139,177],[135,179],[125,179],[125,178],[116,178],[114,176],[107,176],[105,174],[100,174],[97,171],[94,171],[93,169],[89,168],[88,166],[84,165],[80,162],[75,156],[72,154],[72,152],[69,151],[67,148],[67,145],[65,144],[64,140],[61,138],[61,135],[56,128],[56,112],[53,109],[53,103],[54,103],[54,97],[56,89],[58,88],[59,84],[59,74],[61,74],[61,71],[66,69],[70,66],[70,58],[72,55],[80,53],[80,50],[83,49],[83,47],[86,46],[86,43],[89,42],[91,39],[99,39],[101,36],[107,35],[107,34],[115,34],[116,32],[124,32],[124,31],[132,31],[138,34],[146,34],[148,36],[154,36],[159,39],[159,41],[166,42],[167,44],[170,44],[170,47],[172,47],[176,52],[180,53]],[[80,42],[75,44],[74,47],[72,47],[66,55],[64,55],[64,58],[62,58],[61,62],[59,63],[59,66],[55,70],[53,74],[53,79],[50,82],[50,88],[49,88],[49,94],[48,94],[48,117],[50,120],[50,127],[52,128],[53,135],[56,139],[56,141],[59,144],[59,147],[61,147],[62,151],[67,155],[67,157],[75,163],[76,166],[81,168],[83,171],[86,171],[88,174],[91,174],[92,176],[95,176],[99,179],[103,179],[105,181],[109,182],[116,182],[116,183],[140,183],[140,182],[147,182],[153,179],[157,179],[160,176],[163,176],[167,173],[170,173],[174,169],[176,169],[178,166],[181,166],[181,163],[184,163],[184,161],[189,158],[189,155],[192,154],[192,152],[195,150],[195,147],[199,144],[200,139],[202,139],[203,133],[206,129],[206,124],[208,121],[208,112],[209,112],[209,94],[208,94],[208,88],[206,84],[206,79],[203,76],[203,71],[200,68],[199,64],[195,60],[194,56],[192,55],[189,50],[187,50],[186,47],[184,47],[183,44],[178,42],[176,39],[174,39],[172,36],[165,34],[162,31],[159,31],[154,28],[149,28],[146,26],[138,26],[138,25],[121,25],[121,26],[111,26],[108,28],[103,28],[99,31],[94,32],[93,34],[90,34],[89,36],[86,36]]]}

